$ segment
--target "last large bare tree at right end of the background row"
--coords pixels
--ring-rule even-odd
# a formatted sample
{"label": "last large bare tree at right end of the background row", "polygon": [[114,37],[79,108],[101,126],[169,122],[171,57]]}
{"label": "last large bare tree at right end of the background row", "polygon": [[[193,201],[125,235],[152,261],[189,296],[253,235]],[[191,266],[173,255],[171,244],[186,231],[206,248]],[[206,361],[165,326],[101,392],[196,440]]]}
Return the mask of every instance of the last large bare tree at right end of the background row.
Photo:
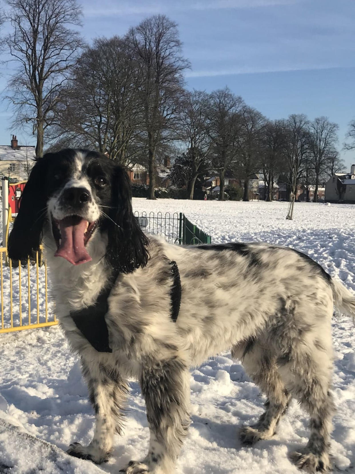
{"label": "last large bare tree at right end of the background row", "polygon": [[334,153],[339,126],[327,117],[317,117],[309,124],[309,152],[314,169],[314,202],[318,202],[319,176],[328,167],[329,155]]}

